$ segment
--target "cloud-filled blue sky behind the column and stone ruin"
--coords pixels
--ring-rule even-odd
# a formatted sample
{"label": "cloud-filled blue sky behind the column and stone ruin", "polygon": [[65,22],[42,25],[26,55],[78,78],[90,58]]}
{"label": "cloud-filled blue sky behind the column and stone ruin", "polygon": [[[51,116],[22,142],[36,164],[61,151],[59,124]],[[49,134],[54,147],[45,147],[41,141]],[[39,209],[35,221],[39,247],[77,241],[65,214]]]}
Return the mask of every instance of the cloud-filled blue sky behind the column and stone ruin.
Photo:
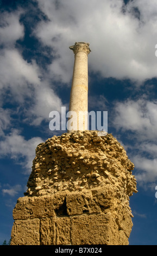
{"label": "cloud-filled blue sky behind the column and stone ruin", "polygon": [[156,0],[0,1],[0,244],[27,190],[49,113],[70,99],[76,41],[90,43],[89,111],[108,111],[112,133],[134,162],[130,245],[157,245]]}

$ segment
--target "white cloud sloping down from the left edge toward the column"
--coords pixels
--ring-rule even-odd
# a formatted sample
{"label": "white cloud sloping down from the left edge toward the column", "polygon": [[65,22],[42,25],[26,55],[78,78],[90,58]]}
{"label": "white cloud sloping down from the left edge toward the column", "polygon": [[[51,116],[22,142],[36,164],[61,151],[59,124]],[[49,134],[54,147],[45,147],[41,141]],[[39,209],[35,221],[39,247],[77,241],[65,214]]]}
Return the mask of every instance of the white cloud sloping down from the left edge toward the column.
{"label": "white cloud sloping down from the left edge toward the column", "polygon": [[47,77],[41,80],[41,74],[39,66],[35,62],[28,63],[17,50],[0,51],[0,88],[3,94],[9,89],[11,102],[20,104],[22,108],[26,108],[24,104],[29,102],[26,117],[35,119],[32,121],[35,125],[48,119],[52,110],[60,111],[62,105],[53,90],[53,84]]}

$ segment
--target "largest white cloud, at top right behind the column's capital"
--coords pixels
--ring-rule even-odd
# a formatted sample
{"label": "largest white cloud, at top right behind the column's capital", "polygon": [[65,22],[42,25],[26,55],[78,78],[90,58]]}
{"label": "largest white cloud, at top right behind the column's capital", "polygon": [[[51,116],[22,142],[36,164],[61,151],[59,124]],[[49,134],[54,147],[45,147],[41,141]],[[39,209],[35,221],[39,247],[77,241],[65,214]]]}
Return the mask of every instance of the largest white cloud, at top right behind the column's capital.
{"label": "largest white cloud, at top right behind the column's capital", "polygon": [[[103,77],[139,81],[156,77],[155,0],[130,2],[125,14],[122,0],[38,2],[49,21],[39,23],[34,34],[53,48],[56,59],[50,69],[52,76],[55,73],[61,81],[70,81],[73,57],[68,46],[87,41],[92,51],[90,71]],[[139,8],[141,20],[135,18],[135,7]]]}

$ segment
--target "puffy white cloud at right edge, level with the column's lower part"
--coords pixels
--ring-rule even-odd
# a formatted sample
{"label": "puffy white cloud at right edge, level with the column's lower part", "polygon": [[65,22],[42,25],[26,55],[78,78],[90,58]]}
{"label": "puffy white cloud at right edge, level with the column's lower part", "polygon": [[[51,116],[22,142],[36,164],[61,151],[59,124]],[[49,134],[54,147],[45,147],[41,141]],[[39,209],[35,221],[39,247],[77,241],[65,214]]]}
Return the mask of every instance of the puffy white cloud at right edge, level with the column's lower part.
{"label": "puffy white cloud at right edge, level with the column's lower part", "polygon": [[117,102],[115,105],[114,124],[117,129],[135,132],[138,140],[157,137],[157,102],[139,99]]}

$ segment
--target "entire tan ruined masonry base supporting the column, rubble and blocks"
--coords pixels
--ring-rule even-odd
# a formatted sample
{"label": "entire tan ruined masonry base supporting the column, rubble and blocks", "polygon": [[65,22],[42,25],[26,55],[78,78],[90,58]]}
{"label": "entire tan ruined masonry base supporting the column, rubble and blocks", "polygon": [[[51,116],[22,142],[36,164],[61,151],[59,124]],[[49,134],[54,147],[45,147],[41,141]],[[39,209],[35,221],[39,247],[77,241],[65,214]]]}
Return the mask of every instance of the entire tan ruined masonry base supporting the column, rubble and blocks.
{"label": "entire tan ruined masonry base supporting the column, rubble and blocks", "polygon": [[133,169],[111,134],[49,138],[36,148],[28,190],[13,211],[11,245],[128,245]]}

